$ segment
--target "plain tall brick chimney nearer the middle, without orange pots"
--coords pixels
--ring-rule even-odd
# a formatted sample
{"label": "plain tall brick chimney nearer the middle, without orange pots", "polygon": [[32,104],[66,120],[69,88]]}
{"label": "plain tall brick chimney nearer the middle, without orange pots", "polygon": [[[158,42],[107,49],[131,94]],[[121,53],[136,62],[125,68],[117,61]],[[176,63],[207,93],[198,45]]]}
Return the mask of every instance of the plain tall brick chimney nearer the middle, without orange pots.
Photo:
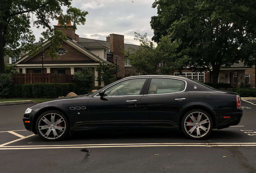
{"label": "plain tall brick chimney nearer the middle, without orange pots", "polygon": [[[108,38],[107,38],[108,39]],[[118,56],[117,65],[119,66],[118,77],[124,78],[124,53],[121,53],[124,48],[124,36],[119,34],[110,34],[109,37],[110,50],[113,52],[112,62],[116,63],[114,58],[115,55]]]}

